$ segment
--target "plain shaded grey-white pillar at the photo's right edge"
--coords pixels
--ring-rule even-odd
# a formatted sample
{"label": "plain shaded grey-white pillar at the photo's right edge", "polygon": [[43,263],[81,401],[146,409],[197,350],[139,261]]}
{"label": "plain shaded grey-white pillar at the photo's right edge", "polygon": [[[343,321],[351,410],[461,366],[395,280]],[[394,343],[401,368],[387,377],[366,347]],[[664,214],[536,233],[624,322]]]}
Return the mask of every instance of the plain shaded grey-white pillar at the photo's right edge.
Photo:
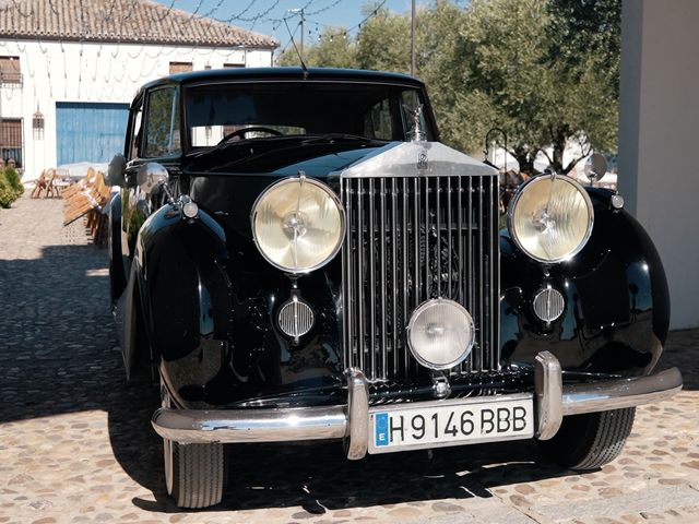
{"label": "plain shaded grey-white pillar at the photo's right edge", "polygon": [[671,326],[699,326],[699,1],[624,0],[619,190],[670,281]]}

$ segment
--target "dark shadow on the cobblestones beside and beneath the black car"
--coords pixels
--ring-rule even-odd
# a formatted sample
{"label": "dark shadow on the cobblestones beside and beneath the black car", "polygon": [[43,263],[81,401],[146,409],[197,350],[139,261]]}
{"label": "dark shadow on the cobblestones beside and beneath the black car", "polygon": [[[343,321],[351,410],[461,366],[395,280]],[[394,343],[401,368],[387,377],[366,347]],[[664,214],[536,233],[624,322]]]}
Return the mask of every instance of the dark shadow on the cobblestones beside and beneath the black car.
{"label": "dark shadow on the cobblestones beside and beneath the black car", "polygon": [[[40,259],[0,260],[0,422],[106,410],[116,458],[155,495],[155,502],[137,498],[133,503],[177,512],[163,488],[162,444],[150,425],[159,403],[157,386],[149,380],[126,383],[106,267],[106,251],[93,246],[48,247]],[[660,365],[679,366],[688,389],[699,386],[688,356],[698,333],[671,334]],[[216,510],[300,505],[319,514],[324,508],[488,498],[487,488],[571,474],[547,463],[532,441],[358,462],[347,461],[340,443],[247,444],[229,451],[228,489]]]}

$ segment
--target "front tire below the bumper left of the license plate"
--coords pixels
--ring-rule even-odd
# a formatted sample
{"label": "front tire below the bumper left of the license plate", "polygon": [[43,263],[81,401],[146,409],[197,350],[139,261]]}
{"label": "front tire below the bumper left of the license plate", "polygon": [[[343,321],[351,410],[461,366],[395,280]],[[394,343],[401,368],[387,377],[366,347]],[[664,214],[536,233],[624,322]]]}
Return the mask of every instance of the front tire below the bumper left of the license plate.
{"label": "front tire below the bumper left of the license plate", "polygon": [[[161,380],[164,407],[169,395]],[[182,444],[163,439],[163,458],[167,493],[179,508],[209,508],[223,499],[226,455],[223,444]]]}

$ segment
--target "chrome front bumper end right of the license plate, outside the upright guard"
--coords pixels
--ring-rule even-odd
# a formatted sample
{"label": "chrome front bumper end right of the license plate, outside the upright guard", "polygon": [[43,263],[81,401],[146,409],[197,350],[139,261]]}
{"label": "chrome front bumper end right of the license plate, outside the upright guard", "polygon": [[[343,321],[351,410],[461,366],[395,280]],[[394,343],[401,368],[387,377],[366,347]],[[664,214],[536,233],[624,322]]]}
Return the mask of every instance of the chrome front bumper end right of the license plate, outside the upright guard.
{"label": "chrome front bumper end right of the license plate, outside the upright guard", "polygon": [[606,412],[670,398],[682,391],[677,368],[648,377],[567,385],[562,392],[564,415]]}

